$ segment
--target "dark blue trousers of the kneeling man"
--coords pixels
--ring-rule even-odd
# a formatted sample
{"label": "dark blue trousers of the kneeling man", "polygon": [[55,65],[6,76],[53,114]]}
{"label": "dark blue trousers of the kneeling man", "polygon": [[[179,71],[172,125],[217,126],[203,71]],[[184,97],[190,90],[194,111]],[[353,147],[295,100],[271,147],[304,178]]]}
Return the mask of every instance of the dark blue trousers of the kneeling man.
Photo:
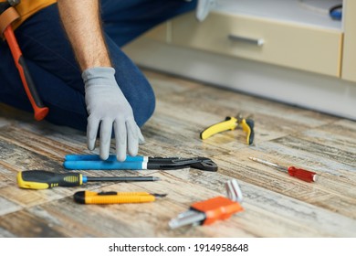
{"label": "dark blue trousers of the kneeling man", "polygon": [[[104,35],[116,69],[116,80],[141,126],[154,111],[154,92],[141,70],[120,47],[163,21],[192,11],[196,1],[101,0],[100,3]],[[46,120],[85,131],[88,112],[84,83],[60,23],[58,6],[50,5],[28,18],[16,29],[16,38],[38,94],[49,108]],[[32,112],[10,49],[3,40],[0,40],[0,101]]]}

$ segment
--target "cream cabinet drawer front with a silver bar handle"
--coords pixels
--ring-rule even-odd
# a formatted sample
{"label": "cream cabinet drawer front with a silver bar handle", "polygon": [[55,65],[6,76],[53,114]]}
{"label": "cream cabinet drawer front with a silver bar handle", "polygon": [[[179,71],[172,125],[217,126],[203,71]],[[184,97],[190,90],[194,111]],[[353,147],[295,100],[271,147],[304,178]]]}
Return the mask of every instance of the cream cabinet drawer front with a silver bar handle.
{"label": "cream cabinet drawer front with a silver bar handle", "polygon": [[211,13],[173,19],[172,43],[285,67],[340,76],[342,33],[252,16]]}

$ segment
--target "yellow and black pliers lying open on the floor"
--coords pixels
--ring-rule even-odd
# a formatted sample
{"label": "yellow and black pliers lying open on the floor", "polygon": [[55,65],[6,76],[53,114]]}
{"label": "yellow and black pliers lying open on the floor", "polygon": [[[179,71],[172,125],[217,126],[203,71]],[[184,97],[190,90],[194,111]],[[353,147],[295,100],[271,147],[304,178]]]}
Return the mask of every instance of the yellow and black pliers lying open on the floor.
{"label": "yellow and black pliers lying open on the floor", "polygon": [[251,118],[244,118],[241,114],[238,114],[236,117],[227,116],[225,121],[209,126],[202,133],[200,133],[200,138],[205,140],[216,133],[222,133],[228,130],[232,131],[239,126],[241,126],[246,132],[246,143],[248,145],[253,144],[255,137],[255,123]]}

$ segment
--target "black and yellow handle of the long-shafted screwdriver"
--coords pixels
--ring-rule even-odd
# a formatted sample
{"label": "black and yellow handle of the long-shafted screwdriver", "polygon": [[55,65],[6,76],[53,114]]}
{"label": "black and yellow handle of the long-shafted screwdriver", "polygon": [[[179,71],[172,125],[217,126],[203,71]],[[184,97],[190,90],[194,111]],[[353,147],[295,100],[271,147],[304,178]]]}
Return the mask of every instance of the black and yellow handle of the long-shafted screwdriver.
{"label": "black and yellow handle of the long-shafted screwdriver", "polygon": [[76,187],[82,183],[83,176],[77,173],[56,174],[42,170],[29,170],[17,174],[18,187],[22,188]]}

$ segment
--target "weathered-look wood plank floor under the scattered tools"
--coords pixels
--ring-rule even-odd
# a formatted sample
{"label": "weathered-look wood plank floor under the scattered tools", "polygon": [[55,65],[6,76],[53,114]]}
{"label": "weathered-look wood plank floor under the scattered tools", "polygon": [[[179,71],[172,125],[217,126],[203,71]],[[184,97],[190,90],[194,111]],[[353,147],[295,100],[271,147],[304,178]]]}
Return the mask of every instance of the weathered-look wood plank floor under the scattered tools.
{"label": "weathered-look wood plank floor under the scattered tools", "polygon": [[[162,180],[21,189],[17,172],[65,172],[65,155],[89,153],[86,136],[2,106],[0,237],[356,237],[356,122],[145,73],[156,91],[157,108],[141,130],[146,144],[139,154],[206,156],[218,172],[86,171],[86,176],[152,175]],[[205,127],[238,112],[253,115],[255,144],[246,145],[241,129],[199,139]],[[308,168],[319,179],[314,184],[299,181],[248,156]],[[242,189],[244,212],[210,226],[169,228],[169,220],[194,202],[225,196],[231,178]],[[83,189],[168,196],[145,204],[79,205],[73,194]]]}

